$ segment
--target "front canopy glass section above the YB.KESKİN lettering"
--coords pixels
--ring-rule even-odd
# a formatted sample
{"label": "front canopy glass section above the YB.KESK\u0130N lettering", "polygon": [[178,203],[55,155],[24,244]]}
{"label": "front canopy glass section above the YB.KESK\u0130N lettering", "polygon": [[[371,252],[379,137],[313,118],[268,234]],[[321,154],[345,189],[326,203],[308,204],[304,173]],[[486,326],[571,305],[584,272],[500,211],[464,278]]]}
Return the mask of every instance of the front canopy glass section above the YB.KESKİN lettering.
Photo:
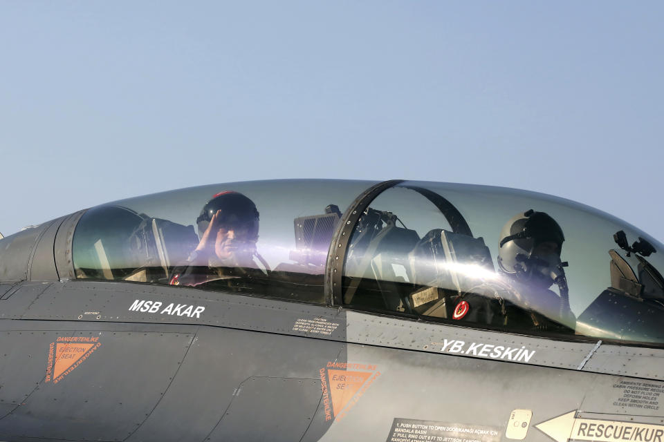
{"label": "front canopy glass section above the YB.KESK\u0130N lettering", "polygon": [[588,206],[403,182],[353,230],[343,300],[519,334],[664,342],[664,246]]}

